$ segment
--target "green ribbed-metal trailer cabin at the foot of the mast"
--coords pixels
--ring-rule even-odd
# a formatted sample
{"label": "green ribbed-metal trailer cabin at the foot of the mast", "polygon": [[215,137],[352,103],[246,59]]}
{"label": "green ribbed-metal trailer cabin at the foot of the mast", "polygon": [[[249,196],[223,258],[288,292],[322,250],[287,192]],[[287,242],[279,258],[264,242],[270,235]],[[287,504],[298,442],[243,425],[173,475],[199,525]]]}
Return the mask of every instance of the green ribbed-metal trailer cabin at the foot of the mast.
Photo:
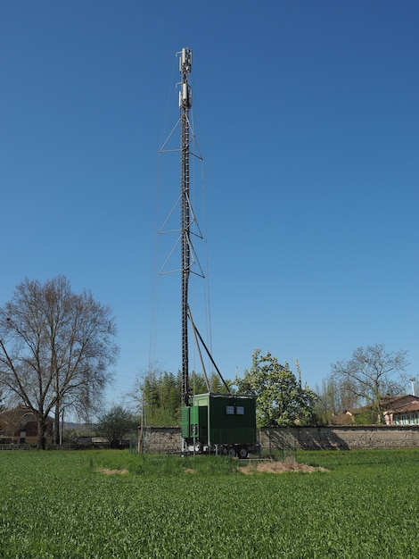
{"label": "green ribbed-metal trailer cabin at the foot of the mast", "polygon": [[187,450],[246,458],[258,451],[256,398],[198,394],[182,407],[182,438]]}

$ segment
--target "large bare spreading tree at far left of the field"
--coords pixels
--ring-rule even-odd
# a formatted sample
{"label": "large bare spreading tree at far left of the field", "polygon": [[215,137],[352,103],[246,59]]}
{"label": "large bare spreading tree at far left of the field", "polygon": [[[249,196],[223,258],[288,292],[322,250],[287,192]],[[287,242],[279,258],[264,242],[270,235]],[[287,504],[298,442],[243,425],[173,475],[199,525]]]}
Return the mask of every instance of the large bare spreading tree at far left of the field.
{"label": "large bare spreading tree at far left of the field", "polygon": [[64,276],[24,280],[0,308],[0,387],[37,416],[38,447],[49,413],[58,442],[65,407],[86,413],[100,403],[119,351],[115,336],[110,307],[72,293]]}

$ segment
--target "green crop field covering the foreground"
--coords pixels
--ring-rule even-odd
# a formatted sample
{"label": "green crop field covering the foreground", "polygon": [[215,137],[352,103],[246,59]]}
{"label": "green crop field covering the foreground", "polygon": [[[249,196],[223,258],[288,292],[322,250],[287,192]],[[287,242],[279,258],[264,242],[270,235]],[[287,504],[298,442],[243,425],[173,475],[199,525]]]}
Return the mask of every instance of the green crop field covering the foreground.
{"label": "green crop field covering the foreground", "polygon": [[419,449],[221,456],[0,453],[0,557],[419,557]]}

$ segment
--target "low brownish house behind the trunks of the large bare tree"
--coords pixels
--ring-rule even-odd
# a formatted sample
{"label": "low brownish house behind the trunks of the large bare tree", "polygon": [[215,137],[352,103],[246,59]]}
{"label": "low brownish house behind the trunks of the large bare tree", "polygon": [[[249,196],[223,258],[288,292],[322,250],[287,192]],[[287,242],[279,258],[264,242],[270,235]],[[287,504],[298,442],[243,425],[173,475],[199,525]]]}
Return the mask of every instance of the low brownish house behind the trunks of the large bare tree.
{"label": "low brownish house behind the trunks of the large bare tree", "polygon": [[[0,412],[0,444],[37,446],[37,417],[25,405]],[[46,424],[46,442],[53,440],[53,419]]]}

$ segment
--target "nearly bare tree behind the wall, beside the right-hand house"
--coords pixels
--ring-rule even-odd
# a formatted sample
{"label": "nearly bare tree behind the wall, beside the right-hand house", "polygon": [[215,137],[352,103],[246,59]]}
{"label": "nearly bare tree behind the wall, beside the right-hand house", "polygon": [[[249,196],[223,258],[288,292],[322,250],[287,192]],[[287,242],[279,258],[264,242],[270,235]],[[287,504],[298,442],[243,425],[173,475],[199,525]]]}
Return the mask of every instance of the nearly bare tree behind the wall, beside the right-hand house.
{"label": "nearly bare tree behind the wall, beside the right-hand house", "polygon": [[375,344],[358,347],[349,361],[333,363],[332,376],[358,404],[371,405],[374,417],[382,421],[382,396],[402,392],[407,365],[406,350],[386,352],[383,344]]}

